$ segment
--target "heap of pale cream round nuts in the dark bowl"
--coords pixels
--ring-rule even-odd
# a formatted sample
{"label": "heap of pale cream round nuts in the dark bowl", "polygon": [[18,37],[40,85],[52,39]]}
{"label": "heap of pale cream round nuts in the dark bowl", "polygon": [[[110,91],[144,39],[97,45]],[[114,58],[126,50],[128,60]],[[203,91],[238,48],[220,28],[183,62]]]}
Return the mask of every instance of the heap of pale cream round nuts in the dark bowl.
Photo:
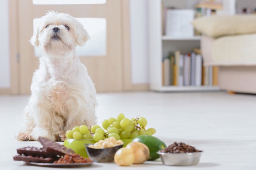
{"label": "heap of pale cream round nuts in the dark bowl", "polygon": [[123,144],[124,142],[122,140],[117,141],[115,137],[110,137],[104,140],[100,140],[99,142],[94,143],[94,145],[89,145],[89,147],[94,149],[104,149]]}

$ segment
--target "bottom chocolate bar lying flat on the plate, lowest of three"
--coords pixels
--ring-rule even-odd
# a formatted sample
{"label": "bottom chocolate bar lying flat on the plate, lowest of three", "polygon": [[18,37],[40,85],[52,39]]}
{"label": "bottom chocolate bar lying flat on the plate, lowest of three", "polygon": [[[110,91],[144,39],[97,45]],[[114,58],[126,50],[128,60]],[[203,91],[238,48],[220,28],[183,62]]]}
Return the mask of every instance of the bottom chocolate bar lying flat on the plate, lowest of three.
{"label": "bottom chocolate bar lying flat on the plate, lowest of three", "polygon": [[36,162],[36,163],[53,163],[56,159],[54,158],[44,158],[44,157],[32,157],[31,155],[16,155],[13,157],[14,161],[24,161],[24,162]]}

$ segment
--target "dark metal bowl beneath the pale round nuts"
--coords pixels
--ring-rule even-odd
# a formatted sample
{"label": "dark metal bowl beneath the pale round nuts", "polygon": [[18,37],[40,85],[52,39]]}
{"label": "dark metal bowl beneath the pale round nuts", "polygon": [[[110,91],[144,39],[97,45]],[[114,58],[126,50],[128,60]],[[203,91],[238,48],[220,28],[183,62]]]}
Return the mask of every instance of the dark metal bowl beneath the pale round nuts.
{"label": "dark metal bowl beneath the pale round nuts", "polygon": [[116,151],[124,146],[124,145],[118,145],[118,146],[109,147],[105,149],[94,149],[94,148],[90,148],[89,145],[92,145],[92,144],[85,144],[85,148],[86,148],[87,154],[89,155],[89,158],[93,162],[113,162]]}

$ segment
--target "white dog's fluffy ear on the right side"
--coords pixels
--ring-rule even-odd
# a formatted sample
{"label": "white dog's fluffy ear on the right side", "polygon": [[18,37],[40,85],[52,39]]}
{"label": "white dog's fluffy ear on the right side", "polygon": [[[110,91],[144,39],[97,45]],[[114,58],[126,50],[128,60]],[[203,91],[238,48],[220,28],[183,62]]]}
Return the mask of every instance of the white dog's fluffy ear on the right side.
{"label": "white dog's fluffy ear on the right side", "polygon": [[76,25],[76,44],[83,47],[86,41],[90,39],[90,36],[81,23],[78,22]]}

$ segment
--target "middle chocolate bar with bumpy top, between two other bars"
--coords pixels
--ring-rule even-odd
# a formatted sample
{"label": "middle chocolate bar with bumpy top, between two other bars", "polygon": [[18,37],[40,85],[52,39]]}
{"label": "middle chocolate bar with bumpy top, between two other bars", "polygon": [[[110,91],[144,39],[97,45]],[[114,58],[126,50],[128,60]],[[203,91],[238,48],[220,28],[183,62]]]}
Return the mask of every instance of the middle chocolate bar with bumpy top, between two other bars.
{"label": "middle chocolate bar with bumpy top, between two other bars", "polygon": [[17,153],[20,155],[26,155],[26,156],[33,156],[33,157],[56,157],[56,154],[46,152],[45,148],[41,147],[34,147],[34,146],[28,146],[28,147],[22,147],[20,149],[17,149]]}

